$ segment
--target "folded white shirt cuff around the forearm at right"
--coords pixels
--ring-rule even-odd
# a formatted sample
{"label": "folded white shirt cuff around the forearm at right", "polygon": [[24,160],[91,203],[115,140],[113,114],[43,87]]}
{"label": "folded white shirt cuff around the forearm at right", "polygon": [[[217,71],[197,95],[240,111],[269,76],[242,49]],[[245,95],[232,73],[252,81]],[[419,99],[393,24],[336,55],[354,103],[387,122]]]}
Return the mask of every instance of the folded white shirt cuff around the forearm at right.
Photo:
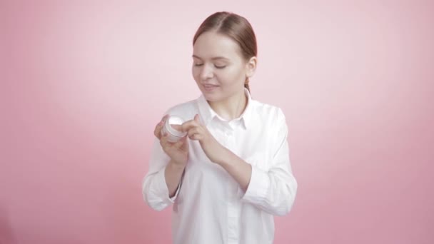
{"label": "folded white shirt cuff around the forearm at right", "polygon": [[241,192],[241,200],[258,203],[266,199],[269,187],[270,178],[268,177],[268,173],[261,171],[259,168],[256,168],[256,166],[252,166],[252,175],[246,193],[243,195],[243,190],[241,190],[241,188],[238,188],[238,190]]}

